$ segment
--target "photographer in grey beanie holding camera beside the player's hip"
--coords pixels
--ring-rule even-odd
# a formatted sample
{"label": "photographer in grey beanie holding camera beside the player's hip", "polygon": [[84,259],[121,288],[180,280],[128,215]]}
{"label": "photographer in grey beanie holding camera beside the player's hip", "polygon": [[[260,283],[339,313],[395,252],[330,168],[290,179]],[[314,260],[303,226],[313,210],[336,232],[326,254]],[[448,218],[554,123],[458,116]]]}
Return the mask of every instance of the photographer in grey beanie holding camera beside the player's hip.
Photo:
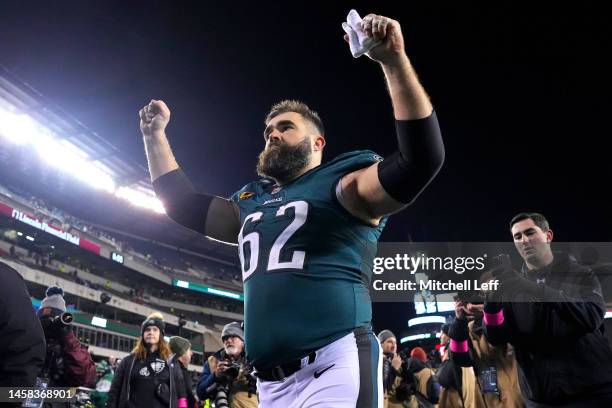
{"label": "photographer in grey beanie holding camera beside the player's hip", "polygon": [[198,381],[200,400],[210,399],[216,408],[257,407],[256,381],[244,356],[240,323],[226,324],[221,332],[223,349],[208,358]]}

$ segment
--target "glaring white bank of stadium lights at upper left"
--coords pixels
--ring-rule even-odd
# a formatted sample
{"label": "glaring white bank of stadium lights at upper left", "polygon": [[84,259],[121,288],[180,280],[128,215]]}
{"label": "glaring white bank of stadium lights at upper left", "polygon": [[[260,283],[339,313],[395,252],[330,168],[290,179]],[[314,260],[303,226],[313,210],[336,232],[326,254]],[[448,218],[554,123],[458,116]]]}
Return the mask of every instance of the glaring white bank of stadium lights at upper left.
{"label": "glaring white bank of stadium lights at upper left", "polygon": [[[0,138],[30,147],[42,162],[96,189],[164,212],[145,170],[120,158],[119,149],[1,66]],[[131,184],[121,186],[119,181],[126,179]]]}

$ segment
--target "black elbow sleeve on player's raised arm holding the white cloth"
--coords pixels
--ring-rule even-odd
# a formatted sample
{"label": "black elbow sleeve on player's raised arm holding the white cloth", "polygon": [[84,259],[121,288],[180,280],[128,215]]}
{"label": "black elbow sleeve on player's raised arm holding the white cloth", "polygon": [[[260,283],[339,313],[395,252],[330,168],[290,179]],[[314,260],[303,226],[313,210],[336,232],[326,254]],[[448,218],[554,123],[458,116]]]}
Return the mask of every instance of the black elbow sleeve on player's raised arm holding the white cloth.
{"label": "black elbow sleeve on player's raised arm holding the white cloth", "polygon": [[417,120],[396,120],[398,151],[378,165],[378,179],[387,194],[410,204],[433,180],[444,163],[444,143],[436,113]]}

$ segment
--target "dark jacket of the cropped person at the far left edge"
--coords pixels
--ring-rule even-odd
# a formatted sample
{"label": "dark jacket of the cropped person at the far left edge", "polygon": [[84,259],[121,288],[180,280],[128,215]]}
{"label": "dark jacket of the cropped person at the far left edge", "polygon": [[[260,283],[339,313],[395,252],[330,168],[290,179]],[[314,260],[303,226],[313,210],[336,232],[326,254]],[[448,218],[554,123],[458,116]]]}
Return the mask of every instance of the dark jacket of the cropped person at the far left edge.
{"label": "dark jacket of the cropped person at the far left edge", "polygon": [[0,262],[0,387],[33,387],[45,362],[45,336],[19,273]]}

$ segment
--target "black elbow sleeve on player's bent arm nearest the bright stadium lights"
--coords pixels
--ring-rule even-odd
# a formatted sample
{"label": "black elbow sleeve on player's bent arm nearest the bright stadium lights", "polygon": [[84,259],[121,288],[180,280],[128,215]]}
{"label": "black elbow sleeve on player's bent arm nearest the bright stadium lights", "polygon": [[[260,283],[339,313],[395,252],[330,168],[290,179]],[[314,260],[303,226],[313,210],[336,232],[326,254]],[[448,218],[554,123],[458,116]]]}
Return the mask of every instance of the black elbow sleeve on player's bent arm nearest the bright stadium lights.
{"label": "black elbow sleeve on player's bent arm nearest the bright stadium lights", "polygon": [[168,217],[204,234],[212,195],[198,193],[181,169],[173,170],[153,181],[153,189],[164,204]]}

